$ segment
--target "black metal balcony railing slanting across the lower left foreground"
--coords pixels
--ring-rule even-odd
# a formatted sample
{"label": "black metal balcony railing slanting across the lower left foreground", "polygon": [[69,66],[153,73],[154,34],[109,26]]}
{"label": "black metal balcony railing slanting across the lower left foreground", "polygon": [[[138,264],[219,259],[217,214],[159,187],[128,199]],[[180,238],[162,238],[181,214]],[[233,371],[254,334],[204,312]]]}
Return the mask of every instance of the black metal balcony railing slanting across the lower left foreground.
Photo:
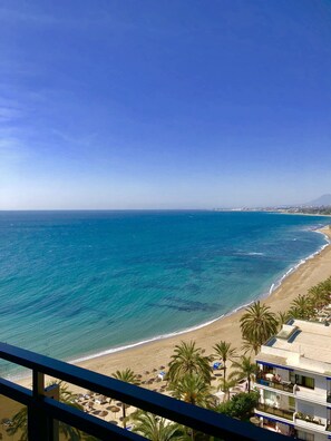
{"label": "black metal balcony railing slanting across the lower left foreground", "polygon": [[[56,389],[45,389],[45,375],[110,396],[222,440],[265,439],[265,431],[253,424],[6,343],[0,343],[0,359],[32,370],[32,390],[0,379],[0,394],[28,406],[30,441],[58,441],[57,421],[99,440],[145,440],[136,433],[57,401]],[[283,435],[271,432],[267,439],[286,441]]]}

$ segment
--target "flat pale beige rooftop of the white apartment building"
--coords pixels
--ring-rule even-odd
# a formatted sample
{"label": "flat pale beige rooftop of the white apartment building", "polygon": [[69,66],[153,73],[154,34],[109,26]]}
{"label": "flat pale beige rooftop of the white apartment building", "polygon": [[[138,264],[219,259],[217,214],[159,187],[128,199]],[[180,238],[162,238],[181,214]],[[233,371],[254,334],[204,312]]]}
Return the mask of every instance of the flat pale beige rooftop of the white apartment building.
{"label": "flat pale beige rooftop of the white apartment building", "polygon": [[[271,359],[274,357],[274,361]],[[302,320],[283,325],[256,360],[331,375],[331,326]]]}

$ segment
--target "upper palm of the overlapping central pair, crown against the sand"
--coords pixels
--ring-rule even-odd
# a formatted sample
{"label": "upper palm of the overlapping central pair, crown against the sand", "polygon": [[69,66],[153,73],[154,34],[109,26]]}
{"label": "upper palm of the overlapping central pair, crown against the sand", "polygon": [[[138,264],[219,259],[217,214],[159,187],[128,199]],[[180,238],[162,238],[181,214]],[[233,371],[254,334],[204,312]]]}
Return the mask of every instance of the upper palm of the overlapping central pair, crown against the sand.
{"label": "upper palm of the overlapping central pair, crown against the sand", "polygon": [[195,342],[181,342],[175,346],[175,353],[169,362],[167,379],[171,383],[177,382],[186,373],[201,375],[206,383],[211,383],[212,367],[211,357],[202,354],[202,349],[195,346]]}

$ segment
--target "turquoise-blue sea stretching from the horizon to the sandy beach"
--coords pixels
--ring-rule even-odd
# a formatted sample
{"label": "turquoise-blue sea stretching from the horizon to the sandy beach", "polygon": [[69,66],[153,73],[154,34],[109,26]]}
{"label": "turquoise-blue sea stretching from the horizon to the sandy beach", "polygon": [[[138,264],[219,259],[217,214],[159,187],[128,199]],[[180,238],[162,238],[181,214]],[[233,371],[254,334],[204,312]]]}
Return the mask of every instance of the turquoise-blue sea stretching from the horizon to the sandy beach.
{"label": "turquoise-blue sea stretching from the horizon to the sandy beach", "polygon": [[[62,360],[202,325],[265,295],[329,218],[222,212],[0,213],[0,335]],[[4,367],[4,374],[12,374]]]}

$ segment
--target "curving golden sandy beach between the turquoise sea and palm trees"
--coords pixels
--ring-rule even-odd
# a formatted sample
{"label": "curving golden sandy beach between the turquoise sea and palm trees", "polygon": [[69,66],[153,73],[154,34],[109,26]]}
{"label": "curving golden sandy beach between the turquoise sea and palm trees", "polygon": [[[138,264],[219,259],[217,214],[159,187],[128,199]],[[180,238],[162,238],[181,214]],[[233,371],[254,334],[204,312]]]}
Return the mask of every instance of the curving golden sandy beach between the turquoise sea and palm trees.
{"label": "curving golden sandy beach between the turquoise sea and palm trees", "polygon": [[[288,310],[298,294],[305,294],[311,286],[331,276],[331,229],[325,226],[317,229],[315,233],[323,234],[328,243],[290,268],[281,277],[280,285],[273,291],[270,290],[269,293],[259,297],[267,306],[271,306],[273,312]],[[105,351],[107,353],[89,356],[87,360],[81,360],[84,359],[81,357],[70,363],[105,375],[111,375],[117,370],[126,367],[130,367],[136,373],[143,373],[146,370],[158,369],[159,365],[167,365],[175,345],[181,341],[194,340],[197,346],[205,349],[206,353],[213,353],[213,346],[221,340],[232,343],[240,350],[242,345],[240,318],[249,304],[238,306],[236,310],[194,329],[154,337],[152,341],[134,343],[119,350],[108,350]],[[30,376],[14,381],[27,388],[31,384]]]}

